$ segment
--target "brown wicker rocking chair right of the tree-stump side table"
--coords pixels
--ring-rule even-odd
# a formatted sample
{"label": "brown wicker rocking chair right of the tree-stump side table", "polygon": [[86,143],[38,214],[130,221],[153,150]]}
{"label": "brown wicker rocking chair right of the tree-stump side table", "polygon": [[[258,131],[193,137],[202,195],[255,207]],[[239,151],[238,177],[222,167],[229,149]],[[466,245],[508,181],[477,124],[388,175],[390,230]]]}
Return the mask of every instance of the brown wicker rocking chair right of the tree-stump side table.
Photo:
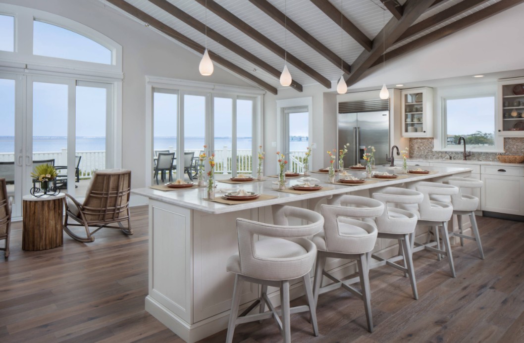
{"label": "brown wicker rocking chair right of the tree-stump side table", "polygon": [[[80,204],[71,195],[65,193],[64,231],[79,242],[92,242],[94,233],[103,227],[121,229],[126,235],[133,235],[129,214],[129,192],[131,190],[131,171],[125,169],[107,169],[95,171],[84,203]],[[68,218],[79,224],[68,224]],[[127,222],[127,227],[122,225]],[[118,224],[110,226],[109,224]],[[70,227],[85,227],[85,236],[73,233]],[[90,231],[90,227],[96,227]]]}

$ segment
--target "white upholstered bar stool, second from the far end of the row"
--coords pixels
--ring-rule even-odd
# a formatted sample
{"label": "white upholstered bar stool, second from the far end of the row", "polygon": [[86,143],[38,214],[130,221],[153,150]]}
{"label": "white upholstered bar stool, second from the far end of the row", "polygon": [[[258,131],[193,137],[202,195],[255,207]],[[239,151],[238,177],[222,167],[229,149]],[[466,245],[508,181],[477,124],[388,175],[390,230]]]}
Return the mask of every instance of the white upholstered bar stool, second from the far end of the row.
{"label": "white upholstered bar stool, second from the far end of the row", "polygon": [[[413,252],[420,250],[429,250],[436,252],[439,259],[440,255],[447,256],[448,263],[450,264],[451,276],[454,278],[455,266],[453,264],[453,255],[451,252],[450,237],[447,233],[447,222],[451,219],[453,215],[453,206],[448,202],[441,202],[436,200],[431,200],[433,195],[455,195],[459,193],[459,189],[453,185],[447,185],[436,182],[428,181],[418,181],[408,183],[407,187],[409,189],[418,191],[424,195],[424,199],[418,205],[408,205],[401,204],[399,205],[402,209],[406,211],[413,212],[419,218],[417,226],[430,226],[436,227],[435,236],[436,241],[426,242],[425,244],[418,244],[415,240],[415,234],[411,234],[411,247]],[[442,241],[444,243],[445,250],[440,249],[440,240],[438,236],[438,228],[442,228]],[[433,248],[433,246],[437,248]]]}

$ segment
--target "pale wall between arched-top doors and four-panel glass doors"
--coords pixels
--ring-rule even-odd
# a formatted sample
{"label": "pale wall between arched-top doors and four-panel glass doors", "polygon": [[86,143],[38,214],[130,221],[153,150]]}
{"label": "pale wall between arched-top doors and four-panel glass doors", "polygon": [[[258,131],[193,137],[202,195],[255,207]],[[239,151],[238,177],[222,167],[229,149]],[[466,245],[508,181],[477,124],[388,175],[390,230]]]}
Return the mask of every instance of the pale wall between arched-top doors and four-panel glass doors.
{"label": "pale wall between arched-top doors and four-panel glass doors", "polygon": [[211,83],[252,86],[215,64],[201,76],[200,58],[151,28],[119,14],[98,0],[0,0],[44,10],[89,26],[123,47],[122,167],[132,170],[132,187],[145,186],[146,75]]}

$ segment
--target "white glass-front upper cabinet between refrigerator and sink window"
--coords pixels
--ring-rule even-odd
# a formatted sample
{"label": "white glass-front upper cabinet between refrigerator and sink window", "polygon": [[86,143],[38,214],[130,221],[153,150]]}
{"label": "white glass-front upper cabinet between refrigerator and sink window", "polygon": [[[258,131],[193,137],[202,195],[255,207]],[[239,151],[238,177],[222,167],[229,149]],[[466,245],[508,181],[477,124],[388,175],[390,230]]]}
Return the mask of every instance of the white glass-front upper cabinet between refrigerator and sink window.
{"label": "white glass-front upper cabinet between refrigerator and sink window", "polygon": [[433,137],[433,88],[411,88],[402,94],[402,136]]}

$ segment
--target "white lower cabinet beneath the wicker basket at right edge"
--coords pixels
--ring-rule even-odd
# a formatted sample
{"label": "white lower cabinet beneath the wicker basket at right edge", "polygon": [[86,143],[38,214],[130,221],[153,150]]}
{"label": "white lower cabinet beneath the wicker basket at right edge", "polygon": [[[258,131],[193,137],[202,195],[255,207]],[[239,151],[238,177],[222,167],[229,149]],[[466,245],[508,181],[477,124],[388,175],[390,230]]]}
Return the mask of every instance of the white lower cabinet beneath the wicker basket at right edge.
{"label": "white lower cabinet beneath the wicker basket at right edge", "polygon": [[483,165],[482,210],[524,215],[524,168]]}

